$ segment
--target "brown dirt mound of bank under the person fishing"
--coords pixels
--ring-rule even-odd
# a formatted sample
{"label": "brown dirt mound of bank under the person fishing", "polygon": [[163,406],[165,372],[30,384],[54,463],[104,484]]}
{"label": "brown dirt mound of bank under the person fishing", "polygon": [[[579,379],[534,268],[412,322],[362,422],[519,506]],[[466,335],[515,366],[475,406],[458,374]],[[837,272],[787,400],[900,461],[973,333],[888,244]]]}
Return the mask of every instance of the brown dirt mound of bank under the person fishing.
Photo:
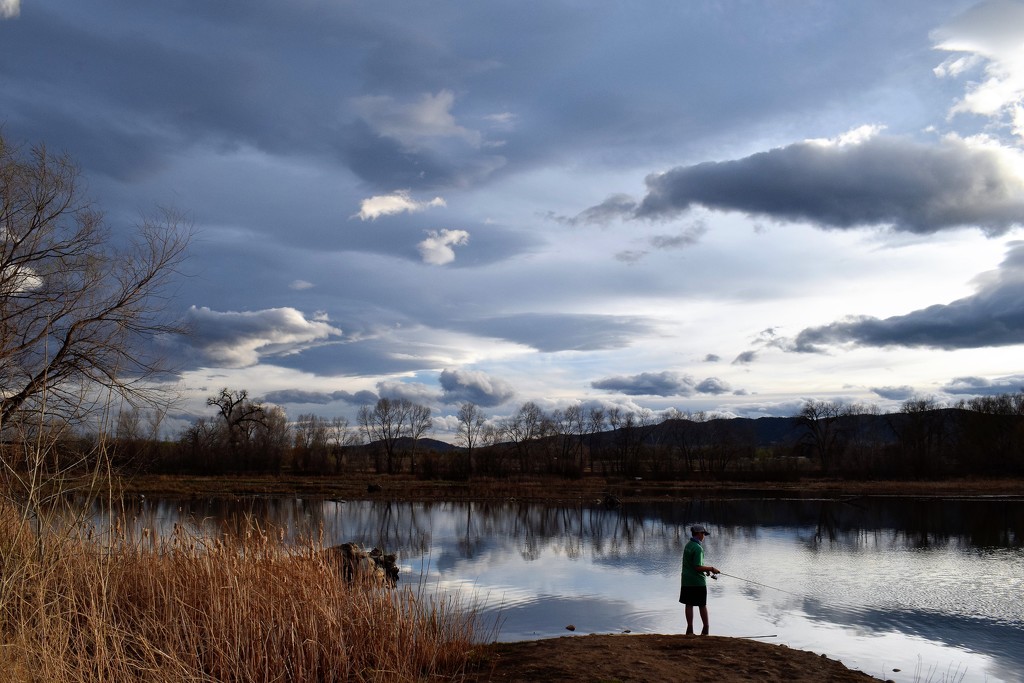
{"label": "brown dirt mound of bank under the person fishing", "polygon": [[590,635],[492,643],[476,661],[467,683],[882,680],[813,652],[716,636]]}

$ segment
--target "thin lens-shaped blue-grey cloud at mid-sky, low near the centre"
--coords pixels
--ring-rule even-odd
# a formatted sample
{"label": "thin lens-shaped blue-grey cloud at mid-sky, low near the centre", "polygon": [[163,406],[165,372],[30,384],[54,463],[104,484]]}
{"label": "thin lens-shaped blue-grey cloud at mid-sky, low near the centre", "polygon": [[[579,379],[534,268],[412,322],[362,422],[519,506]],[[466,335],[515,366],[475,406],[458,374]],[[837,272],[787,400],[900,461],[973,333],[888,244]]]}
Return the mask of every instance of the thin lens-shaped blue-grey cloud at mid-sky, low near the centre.
{"label": "thin lens-shaped blue-grey cloud at mid-sky, low near the centre", "polygon": [[522,313],[464,323],[460,327],[548,352],[623,348],[652,330],[651,324],[642,317],[572,313]]}

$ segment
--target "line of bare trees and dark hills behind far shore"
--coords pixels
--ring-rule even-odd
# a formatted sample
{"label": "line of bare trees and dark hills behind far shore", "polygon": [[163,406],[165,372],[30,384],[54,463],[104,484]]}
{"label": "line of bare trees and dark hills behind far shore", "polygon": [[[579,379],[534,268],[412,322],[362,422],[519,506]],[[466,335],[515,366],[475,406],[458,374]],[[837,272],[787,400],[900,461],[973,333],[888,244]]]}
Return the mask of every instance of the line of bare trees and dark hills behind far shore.
{"label": "line of bare trees and dark hills behind far shore", "polygon": [[624,411],[527,401],[492,419],[463,403],[453,442],[428,438],[431,411],[403,398],[358,410],[355,424],[290,420],[245,390],[210,396],[209,417],[154,443],[129,412],[114,442],[120,466],[167,473],[412,474],[425,478],[587,475],[648,479],[949,477],[1024,474],[1024,392],[952,405],[914,398],[899,411],[808,400],[788,418],[723,418],[672,409]]}

